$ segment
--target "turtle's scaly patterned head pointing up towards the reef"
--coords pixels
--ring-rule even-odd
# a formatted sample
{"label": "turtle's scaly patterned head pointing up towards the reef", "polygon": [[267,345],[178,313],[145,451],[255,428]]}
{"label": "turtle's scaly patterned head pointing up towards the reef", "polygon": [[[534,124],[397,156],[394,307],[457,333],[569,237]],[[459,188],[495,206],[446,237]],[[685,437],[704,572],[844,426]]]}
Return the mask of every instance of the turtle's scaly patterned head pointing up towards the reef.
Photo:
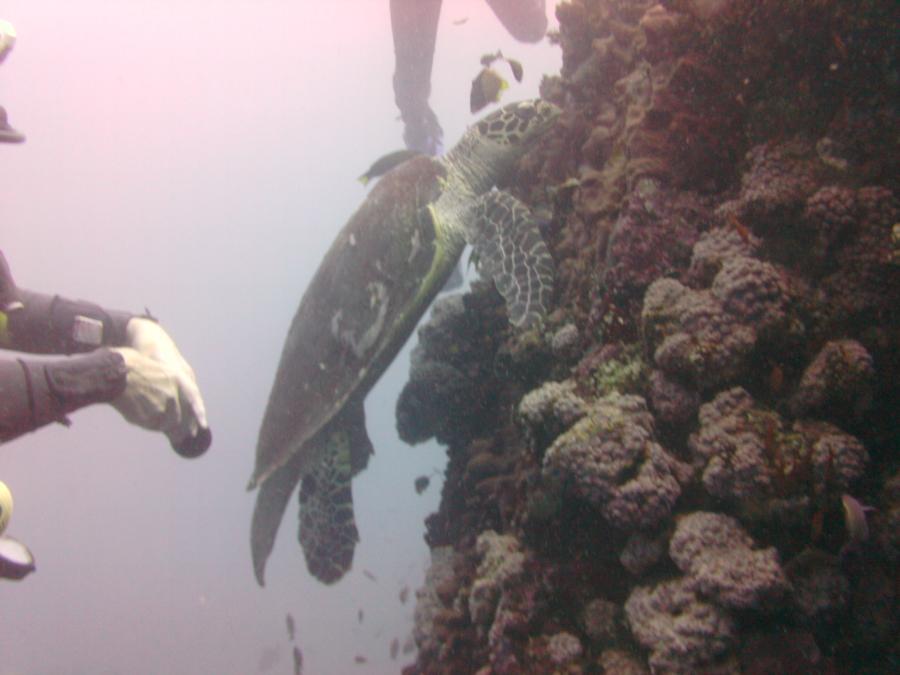
{"label": "turtle's scaly patterned head pointing up towards the reef", "polygon": [[469,128],[460,147],[454,148],[455,159],[481,165],[498,178],[553,126],[560,112],[539,98],[505,105]]}

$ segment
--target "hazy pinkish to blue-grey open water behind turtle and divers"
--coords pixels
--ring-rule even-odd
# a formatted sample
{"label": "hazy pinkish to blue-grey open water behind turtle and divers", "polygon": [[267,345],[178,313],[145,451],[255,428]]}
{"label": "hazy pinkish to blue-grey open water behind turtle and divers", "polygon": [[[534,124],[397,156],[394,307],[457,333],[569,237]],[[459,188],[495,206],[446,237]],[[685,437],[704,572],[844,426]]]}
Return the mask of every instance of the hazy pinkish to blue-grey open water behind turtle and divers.
{"label": "hazy pinkish to blue-grey open water behind turtle and divers", "polygon": [[[214,433],[185,461],[104,406],[0,447],[8,533],[38,565],[0,584],[0,675],[256,673],[266,657],[267,672],[289,673],[287,612],[306,673],[399,672],[388,647],[408,635],[413,599],[398,594],[421,582],[440,491],[436,479],[416,495],[413,480],[444,463],[394,431],[411,344],[366,401],[376,455],[353,485],[362,541],[344,580],[308,575],[292,502],[257,587],[244,491],[303,289],[364,198],[356,177],[402,145],[388,0],[7,0],[0,12],[19,33],[0,104],[28,136],[0,146],[0,247],[17,282],[149,308],[194,366]],[[505,101],[558,71],[557,48],[514,42],[482,0],[445,0],[431,100],[447,147],[474,119],[479,56],[497,48],[525,67]]]}

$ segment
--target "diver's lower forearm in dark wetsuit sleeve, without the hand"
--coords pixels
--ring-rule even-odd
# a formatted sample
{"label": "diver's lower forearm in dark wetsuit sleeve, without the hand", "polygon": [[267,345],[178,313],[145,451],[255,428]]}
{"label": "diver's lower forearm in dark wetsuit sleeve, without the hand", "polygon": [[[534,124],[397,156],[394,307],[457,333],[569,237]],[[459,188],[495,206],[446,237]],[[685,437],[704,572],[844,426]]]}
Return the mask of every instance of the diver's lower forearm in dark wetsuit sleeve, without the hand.
{"label": "diver's lower forearm in dark wetsuit sleeve, without the hand", "polygon": [[0,442],[112,402],[125,391],[127,374],[125,359],[109,349],[54,359],[0,355]]}

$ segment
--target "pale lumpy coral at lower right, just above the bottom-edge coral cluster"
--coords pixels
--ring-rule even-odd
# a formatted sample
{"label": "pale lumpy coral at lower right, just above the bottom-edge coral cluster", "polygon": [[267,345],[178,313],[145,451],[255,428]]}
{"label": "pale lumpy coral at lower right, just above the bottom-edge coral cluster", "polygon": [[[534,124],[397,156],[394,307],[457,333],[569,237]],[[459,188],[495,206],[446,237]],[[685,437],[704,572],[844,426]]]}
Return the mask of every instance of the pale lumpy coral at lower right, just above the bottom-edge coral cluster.
{"label": "pale lumpy coral at lower right, just above the bottom-edge coral cluster", "polygon": [[759,608],[790,588],[774,548],[757,549],[730,516],[698,511],[678,519],[669,556],[696,589],[735,609]]}

